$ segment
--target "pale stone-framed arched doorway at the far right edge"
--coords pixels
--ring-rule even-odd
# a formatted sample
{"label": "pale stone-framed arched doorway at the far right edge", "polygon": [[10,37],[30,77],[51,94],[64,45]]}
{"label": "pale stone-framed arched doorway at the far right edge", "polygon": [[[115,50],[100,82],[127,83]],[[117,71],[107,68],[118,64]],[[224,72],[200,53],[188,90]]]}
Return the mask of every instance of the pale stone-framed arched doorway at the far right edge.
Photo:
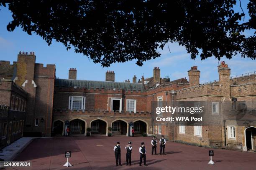
{"label": "pale stone-framed arched doorway at the far right edge", "polygon": [[254,126],[245,129],[247,150],[256,150],[256,128]]}

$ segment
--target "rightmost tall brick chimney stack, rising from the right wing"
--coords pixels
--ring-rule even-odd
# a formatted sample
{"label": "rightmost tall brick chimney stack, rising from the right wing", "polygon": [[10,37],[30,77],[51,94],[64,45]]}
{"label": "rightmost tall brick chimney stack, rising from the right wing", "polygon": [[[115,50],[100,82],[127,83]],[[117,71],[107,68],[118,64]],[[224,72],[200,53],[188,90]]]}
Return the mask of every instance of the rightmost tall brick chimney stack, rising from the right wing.
{"label": "rightmost tall brick chimney stack, rising from the right wing", "polygon": [[222,101],[230,101],[230,68],[227,64],[225,64],[225,61],[220,62],[220,65],[218,66],[218,72],[219,85],[223,96]]}

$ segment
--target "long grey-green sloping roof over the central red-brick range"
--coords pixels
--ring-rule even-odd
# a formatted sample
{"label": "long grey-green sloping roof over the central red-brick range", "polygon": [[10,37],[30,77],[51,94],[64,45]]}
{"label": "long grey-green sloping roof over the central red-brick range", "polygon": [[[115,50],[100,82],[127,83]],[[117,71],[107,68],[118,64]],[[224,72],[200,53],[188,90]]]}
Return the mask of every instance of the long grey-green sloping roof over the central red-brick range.
{"label": "long grey-green sloping roof over the central red-brick range", "polygon": [[109,82],[109,81],[92,81],[92,80],[71,80],[55,79],[55,86],[59,87],[87,87],[87,88],[117,88],[124,90],[145,90],[142,83],[130,82]]}

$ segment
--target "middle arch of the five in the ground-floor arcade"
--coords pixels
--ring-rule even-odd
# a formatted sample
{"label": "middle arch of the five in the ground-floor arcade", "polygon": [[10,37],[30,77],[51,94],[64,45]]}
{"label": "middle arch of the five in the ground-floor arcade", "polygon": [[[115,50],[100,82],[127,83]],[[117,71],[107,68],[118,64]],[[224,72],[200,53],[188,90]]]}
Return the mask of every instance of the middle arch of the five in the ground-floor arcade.
{"label": "middle arch of the five in the ground-floor arcade", "polygon": [[96,119],[90,123],[91,134],[104,134],[107,135],[107,123],[104,120]]}

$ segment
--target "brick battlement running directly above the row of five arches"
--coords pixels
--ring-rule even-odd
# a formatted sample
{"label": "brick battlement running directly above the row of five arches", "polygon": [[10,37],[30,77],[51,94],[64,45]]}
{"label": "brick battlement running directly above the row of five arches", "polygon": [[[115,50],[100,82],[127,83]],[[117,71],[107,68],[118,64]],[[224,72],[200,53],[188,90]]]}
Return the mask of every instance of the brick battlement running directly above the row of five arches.
{"label": "brick battlement running directly above the row of five arches", "polygon": [[54,108],[54,115],[87,115],[87,116],[118,116],[118,117],[147,117],[151,118],[151,112],[114,112],[113,110],[69,110],[66,108]]}

